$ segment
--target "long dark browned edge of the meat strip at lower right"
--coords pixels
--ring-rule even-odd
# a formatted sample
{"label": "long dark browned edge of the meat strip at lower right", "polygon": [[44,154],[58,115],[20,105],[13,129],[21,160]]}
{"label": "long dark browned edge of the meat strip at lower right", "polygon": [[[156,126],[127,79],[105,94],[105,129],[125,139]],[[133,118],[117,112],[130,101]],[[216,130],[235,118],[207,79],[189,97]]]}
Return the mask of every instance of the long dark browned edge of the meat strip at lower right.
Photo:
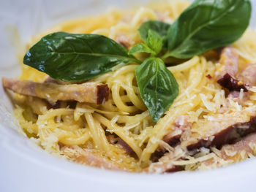
{"label": "long dark browned edge of the meat strip at lower right", "polygon": [[188,145],[187,150],[195,150],[200,147],[217,147],[220,149],[223,145],[238,142],[239,139],[255,132],[256,117],[252,117],[248,122],[236,123],[215,134],[212,141],[200,139],[197,143]]}

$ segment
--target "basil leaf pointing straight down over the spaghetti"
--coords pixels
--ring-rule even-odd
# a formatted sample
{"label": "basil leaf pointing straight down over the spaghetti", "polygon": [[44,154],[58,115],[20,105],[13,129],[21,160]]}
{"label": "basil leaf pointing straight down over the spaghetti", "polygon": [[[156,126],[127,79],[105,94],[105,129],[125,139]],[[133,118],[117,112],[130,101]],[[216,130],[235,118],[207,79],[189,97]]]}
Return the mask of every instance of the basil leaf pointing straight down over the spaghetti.
{"label": "basil leaf pointing straight down over the spaghetti", "polygon": [[160,58],[147,58],[135,75],[140,96],[157,122],[178,96],[178,83]]}

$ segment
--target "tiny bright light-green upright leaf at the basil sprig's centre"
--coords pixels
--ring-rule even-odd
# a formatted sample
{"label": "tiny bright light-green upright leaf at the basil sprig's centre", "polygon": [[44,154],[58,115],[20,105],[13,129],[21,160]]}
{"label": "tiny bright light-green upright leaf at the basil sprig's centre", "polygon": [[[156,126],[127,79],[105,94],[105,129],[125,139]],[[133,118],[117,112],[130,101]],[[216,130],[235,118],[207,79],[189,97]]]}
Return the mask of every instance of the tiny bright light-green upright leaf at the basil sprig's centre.
{"label": "tiny bright light-green upright leaf at the basil sprig's centre", "polygon": [[156,55],[162,50],[162,37],[156,31],[152,29],[148,30],[147,45],[154,50]]}

